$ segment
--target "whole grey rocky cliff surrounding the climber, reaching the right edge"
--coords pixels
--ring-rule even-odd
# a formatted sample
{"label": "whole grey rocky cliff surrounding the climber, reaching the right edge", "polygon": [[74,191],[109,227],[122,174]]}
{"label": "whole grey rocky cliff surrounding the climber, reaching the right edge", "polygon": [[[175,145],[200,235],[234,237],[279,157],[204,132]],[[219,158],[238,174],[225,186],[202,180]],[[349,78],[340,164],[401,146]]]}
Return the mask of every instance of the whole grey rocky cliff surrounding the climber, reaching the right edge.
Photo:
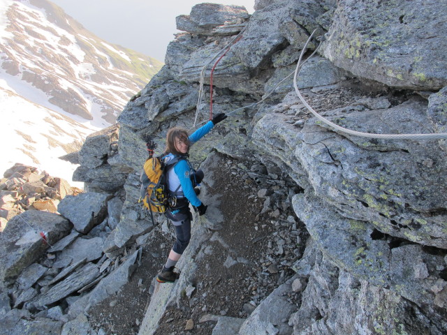
{"label": "whole grey rocky cliff surrounding the climber, reaching the right edge", "polygon": [[[109,266],[103,258],[129,258],[129,248],[145,243],[154,258],[166,257],[172,228],[163,216],[153,225],[138,204],[144,139],[151,136],[161,154],[168,128],[192,130],[207,121],[211,66],[196,110],[200,73],[230,46],[213,81],[213,113],[226,112],[228,119],[190,152],[191,163],[206,172],[200,199],[209,204],[207,214],[194,220],[177,263],[179,280],[149,285],[149,308],[135,321],[139,334],[185,327],[228,334],[228,323],[231,334],[240,335],[446,334],[445,140],[375,140],[335,131],[308,112],[291,79],[280,82],[316,29],[326,38],[319,55],[302,66],[297,86],[325,118],[367,133],[445,132],[446,45],[440,36],[447,7],[418,0],[336,5],[256,1],[250,17],[237,6],[194,6],[191,15],[177,18],[185,32],[168,46],[162,70],[126,105],[119,130],[94,134],[82,148],[79,179],[96,193],[91,196],[103,193],[121,211],[109,208],[107,222],[96,221],[87,234],[91,245],[100,242],[93,237],[103,239],[103,256],[75,257],[71,250],[87,241],[73,239],[88,230],[73,231],[59,242],[69,262],[62,258],[57,266],[89,274],[85,290],[100,281],[95,290],[102,297],[110,288],[95,279]],[[313,40],[310,49],[317,45]],[[168,237],[163,248],[154,244],[161,234]],[[58,289],[36,292],[29,282],[46,272],[42,264],[27,265],[27,280],[20,277],[14,294],[17,306],[70,301],[61,297],[73,295],[67,283],[80,286],[72,282],[79,276],[58,270],[60,281],[56,274],[48,278]],[[93,293],[68,315],[88,304],[96,304]],[[17,308],[7,310],[9,318],[19,318]],[[91,322],[77,317],[64,329]]]}

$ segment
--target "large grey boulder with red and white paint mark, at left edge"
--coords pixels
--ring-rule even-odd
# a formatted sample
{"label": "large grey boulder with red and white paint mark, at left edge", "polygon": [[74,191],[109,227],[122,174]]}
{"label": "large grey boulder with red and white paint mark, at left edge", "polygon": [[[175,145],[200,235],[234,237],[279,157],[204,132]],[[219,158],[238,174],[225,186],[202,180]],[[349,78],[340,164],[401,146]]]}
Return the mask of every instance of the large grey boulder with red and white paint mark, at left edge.
{"label": "large grey boulder with red and white paint mark, at left edge", "polygon": [[45,211],[25,211],[12,218],[0,235],[0,281],[18,276],[70,230],[65,218]]}

